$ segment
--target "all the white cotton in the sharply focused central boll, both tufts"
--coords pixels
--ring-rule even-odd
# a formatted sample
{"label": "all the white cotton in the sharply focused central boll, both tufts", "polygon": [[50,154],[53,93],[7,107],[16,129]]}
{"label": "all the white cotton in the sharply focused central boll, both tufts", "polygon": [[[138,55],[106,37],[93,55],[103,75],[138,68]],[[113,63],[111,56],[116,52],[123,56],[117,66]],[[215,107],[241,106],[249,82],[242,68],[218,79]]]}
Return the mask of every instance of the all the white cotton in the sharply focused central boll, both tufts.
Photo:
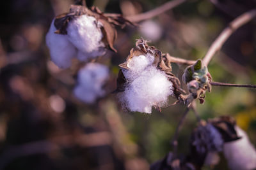
{"label": "all the white cotton in the sharply focused central boll, both tufts", "polygon": [[173,94],[172,82],[163,71],[151,66],[153,61],[152,55],[135,56],[127,64],[131,70],[123,70],[129,83],[121,100],[130,111],[151,113],[152,106],[163,106]]}

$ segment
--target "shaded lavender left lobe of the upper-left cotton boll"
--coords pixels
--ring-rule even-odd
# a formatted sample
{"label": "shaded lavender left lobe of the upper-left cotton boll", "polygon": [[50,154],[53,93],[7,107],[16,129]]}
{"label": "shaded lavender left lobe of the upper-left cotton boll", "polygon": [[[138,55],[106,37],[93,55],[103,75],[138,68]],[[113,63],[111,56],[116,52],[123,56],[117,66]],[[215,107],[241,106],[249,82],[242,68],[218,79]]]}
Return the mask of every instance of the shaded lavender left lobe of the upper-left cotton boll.
{"label": "shaded lavender left lobe of the upper-left cotton boll", "polygon": [[70,67],[72,58],[76,57],[76,48],[68,41],[66,35],[56,34],[55,31],[56,27],[53,20],[46,35],[46,44],[50,50],[52,62],[65,69]]}

